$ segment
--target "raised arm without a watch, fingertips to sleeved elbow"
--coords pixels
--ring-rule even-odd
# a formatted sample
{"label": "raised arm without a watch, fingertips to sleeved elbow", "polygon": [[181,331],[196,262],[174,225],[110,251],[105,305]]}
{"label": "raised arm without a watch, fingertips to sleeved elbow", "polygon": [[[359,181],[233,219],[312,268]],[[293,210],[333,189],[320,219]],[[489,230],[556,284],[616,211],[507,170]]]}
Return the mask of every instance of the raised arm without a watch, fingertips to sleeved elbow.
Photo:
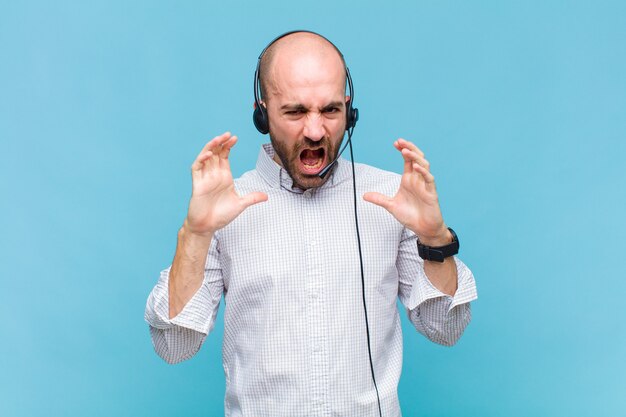
{"label": "raised arm without a watch, fingertips to sleeved elbow", "polygon": [[145,317],[155,349],[170,363],[193,356],[213,327],[223,291],[215,233],[267,200],[264,193],[235,192],[228,156],[236,141],[228,132],[217,136],[194,161],[192,196],[174,261],[148,298]]}

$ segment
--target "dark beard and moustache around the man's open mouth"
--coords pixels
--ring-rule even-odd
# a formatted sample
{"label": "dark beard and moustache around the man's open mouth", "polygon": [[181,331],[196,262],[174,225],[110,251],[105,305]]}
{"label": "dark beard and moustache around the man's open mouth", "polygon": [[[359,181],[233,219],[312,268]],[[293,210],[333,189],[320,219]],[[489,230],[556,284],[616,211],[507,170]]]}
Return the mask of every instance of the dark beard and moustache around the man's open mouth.
{"label": "dark beard and moustache around the man's open mouth", "polygon": [[270,141],[272,142],[272,147],[274,148],[274,152],[278,155],[280,162],[283,165],[283,168],[293,181],[293,187],[300,188],[301,190],[308,190],[309,188],[317,188],[323,185],[328,178],[331,177],[332,171],[335,169],[331,168],[331,172],[329,172],[324,178],[320,178],[318,175],[309,175],[302,174],[298,172],[297,164],[300,161],[300,153],[304,148],[318,148],[323,147],[326,152],[326,165],[330,164],[337,158],[337,153],[339,152],[339,146],[341,145],[341,141],[337,143],[336,146],[333,146],[331,141],[324,137],[319,141],[313,141],[308,138],[304,138],[304,141],[298,143],[292,149],[288,149],[287,146],[280,141],[277,141],[272,132],[269,132]]}

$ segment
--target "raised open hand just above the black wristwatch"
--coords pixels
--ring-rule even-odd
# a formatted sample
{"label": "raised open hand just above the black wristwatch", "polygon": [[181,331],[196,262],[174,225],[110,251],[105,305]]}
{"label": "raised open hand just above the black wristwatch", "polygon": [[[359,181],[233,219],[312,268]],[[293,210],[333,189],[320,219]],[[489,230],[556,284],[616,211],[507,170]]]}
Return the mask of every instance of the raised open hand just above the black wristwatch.
{"label": "raised open hand just above the black wristwatch", "polygon": [[404,158],[404,173],[398,192],[394,197],[368,192],[363,199],[385,208],[424,244],[442,246],[449,243],[451,235],[441,215],[435,177],[430,173],[424,152],[404,139],[398,139],[393,145]]}

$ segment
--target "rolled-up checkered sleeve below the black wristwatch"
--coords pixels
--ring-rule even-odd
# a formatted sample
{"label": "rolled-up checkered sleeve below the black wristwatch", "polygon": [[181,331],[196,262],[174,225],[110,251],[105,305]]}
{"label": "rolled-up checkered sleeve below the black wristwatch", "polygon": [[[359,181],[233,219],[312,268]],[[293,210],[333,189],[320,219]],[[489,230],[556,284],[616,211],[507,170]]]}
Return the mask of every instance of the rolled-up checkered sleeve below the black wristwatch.
{"label": "rolled-up checkered sleeve below the black wristwatch", "polygon": [[457,270],[454,296],[439,291],[426,276],[412,232],[405,231],[396,261],[399,297],[407,308],[409,320],[428,339],[445,346],[459,340],[471,319],[470,302],[478,298],[472,272],[457,257],[454,261]]}

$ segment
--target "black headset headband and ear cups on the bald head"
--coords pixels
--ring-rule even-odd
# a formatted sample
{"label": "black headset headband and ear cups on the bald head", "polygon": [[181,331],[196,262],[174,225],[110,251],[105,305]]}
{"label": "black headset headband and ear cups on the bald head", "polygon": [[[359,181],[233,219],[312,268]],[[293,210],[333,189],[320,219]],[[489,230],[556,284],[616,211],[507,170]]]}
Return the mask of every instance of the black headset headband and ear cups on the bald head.
{"label": "black headset headband and ear cups on the bald head", "polygon": [[272,46],[276,41],[284,38],[285,36],[289,36],[293,33],[312,33],[314,35],[317,35],[321,37],[322,39],[325,39],[328,43],[330,43],[341,56],[341,59],[344,62],[344,66],[346,69],[346,80],[348,82],[348,94],[350,95],[350,101],[348,102],[348,108],[346,110],[346,130],[350,131],[350,129],[353,129],[354,126],[356,125],[357,120],[359,120],[359,109],[356,109],[352,106],[352,103],[354,102],[354,88],[352,87],[352,77],[350,77],[350,70],[348,69],[348,66],[345,65],[343,54],[341,53],[339,48],[337,48],[337,46],[335,46],[334,43],[326,39],[324,36],[320,35],[319,33],[310,31],[310,30],[292,30],[292,31],[283,33],[282,35],[274,38],[274,40],[271,41],[263,49],[263,51],[261,51],[261,54],[259,55],[259,60],[257,61],[257,64],[256,64],[256,70],[254,71],[254,113],[252,114],[252,121],[254,122],[254,126],[257,128],[259,132],[261,132],[264,135],[270,131],[270,123],[267,117],[267,109],[263,106],[263,104],[261,104],[261,80],[260,80],[261,59],[263,59],[263,55],[265,55],[265,51],[267,51],[267,49],[270,46]]}

